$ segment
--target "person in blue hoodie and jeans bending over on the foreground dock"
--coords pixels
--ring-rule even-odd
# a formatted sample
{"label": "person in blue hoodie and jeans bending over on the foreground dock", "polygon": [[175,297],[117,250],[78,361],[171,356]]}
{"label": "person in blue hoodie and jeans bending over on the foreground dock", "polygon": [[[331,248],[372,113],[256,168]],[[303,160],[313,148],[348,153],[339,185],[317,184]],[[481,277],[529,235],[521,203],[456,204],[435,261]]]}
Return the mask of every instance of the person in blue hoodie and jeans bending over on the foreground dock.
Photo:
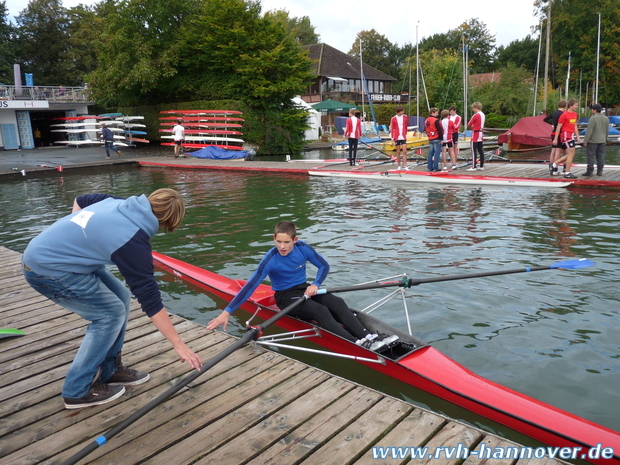
{"label": "person in blue hoodie and jeans bending over on the foreground dock", "polygon": [[[184,214],[183,197],[173,189],[128,199],[81,195],[73,213],[28,244],[22,260],[28,284],[90,322],[62,388],[66,408],[111,402],[123,395],[124,386],[149,380],[148,373],[127,368],[121,360],[131,293],[181,362],[196,370],[202,366],[164,308],[149,243],[159,229],[174,231]],[[131,293],[106,265],[118,267]]]}

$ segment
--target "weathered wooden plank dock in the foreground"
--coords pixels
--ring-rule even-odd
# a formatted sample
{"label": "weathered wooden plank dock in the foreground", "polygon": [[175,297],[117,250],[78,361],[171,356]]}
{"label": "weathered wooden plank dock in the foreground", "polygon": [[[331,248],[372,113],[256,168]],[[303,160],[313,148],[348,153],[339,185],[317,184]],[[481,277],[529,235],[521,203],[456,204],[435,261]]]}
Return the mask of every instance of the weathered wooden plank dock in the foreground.
{"label": "weathered wooden plank dock in the foreground", "polygon": [[[151,379],[117,401],[66,410],[67,368],[86,328],[32,290],[21,254],[0,247],[0,465],[59,464],[189,373],[133,302],[123,360]],[[203,362],[236,339],[172,316]],[[156,407],[79,463],[556,465],[559,460],[374,459],[373,447],[520,447],[288,357],[248,345]]]}

